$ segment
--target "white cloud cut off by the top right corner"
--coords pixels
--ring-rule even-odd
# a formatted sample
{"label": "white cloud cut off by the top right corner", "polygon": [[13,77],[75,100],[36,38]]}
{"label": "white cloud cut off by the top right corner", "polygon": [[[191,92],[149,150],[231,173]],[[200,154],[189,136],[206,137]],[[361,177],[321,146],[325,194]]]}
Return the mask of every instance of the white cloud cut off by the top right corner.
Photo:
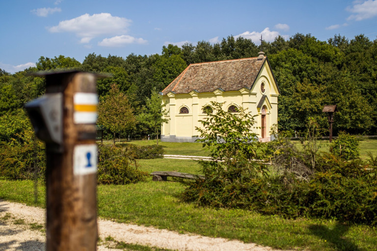
{"label": "white cloud cut off by the top right corner", "polygon": [[354,1],[352,7],[347,7],[347,11],[354,14],[350,15],[347,20],[361,21],[377,16],[377,0]]}

